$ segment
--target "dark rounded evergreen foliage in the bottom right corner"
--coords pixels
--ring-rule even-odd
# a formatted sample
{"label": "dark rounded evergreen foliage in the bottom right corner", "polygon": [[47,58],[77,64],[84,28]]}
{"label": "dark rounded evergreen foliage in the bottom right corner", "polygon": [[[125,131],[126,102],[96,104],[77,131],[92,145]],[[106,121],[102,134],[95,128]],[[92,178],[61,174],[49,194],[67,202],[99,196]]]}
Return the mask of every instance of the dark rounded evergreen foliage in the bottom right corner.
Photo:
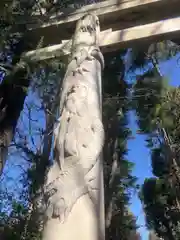
{"label": "dark rounded evergreen foliage in the bottom right corner", "polygon": [[145,180],[140,194],[146,213],[146,223],[159,237],[178,239],[180,213],[177,211],[175,192],[166,179]]}

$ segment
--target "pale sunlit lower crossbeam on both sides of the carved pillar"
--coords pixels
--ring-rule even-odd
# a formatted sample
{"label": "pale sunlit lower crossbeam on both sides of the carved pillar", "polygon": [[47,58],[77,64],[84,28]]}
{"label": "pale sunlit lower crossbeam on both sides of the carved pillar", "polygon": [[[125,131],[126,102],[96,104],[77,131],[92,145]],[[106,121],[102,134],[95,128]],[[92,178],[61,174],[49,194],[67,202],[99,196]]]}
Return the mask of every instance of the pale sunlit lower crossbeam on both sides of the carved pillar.
{"label": "pale sunlit lower crossbeam on both sides of the carved pillar", "polygon": [[[103,53],[114,51],[131,44],[144,44],[144,41],[155,42],[158,40],[172,39],[180,35],[180,17],[157,21],[132,28],[101,32],[100,47]],[[42,61],[46,59],[67,56],[70,53],[68,41],[63,41],[50,47],[29,51],[24,54],[24,59]]]}

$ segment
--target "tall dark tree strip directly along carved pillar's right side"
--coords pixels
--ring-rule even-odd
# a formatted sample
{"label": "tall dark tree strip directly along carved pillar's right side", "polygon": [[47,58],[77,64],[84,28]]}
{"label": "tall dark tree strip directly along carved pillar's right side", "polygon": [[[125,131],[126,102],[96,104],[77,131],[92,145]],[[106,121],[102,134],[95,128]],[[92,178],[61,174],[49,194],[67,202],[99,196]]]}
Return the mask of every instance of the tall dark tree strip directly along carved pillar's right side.
{"label": "tall dark tree strip directly along carved pillar's right side", "polygon": [[137,178],[132,175],[134,164],[126,159],[131,131],[127,126],[128,85],[124,81],[124,65],[120,57],[123,54],[117,52],[105,55],[103,76],[103,122],[106,131],[103,155],[108,240],[129,240],[138,236],[136,219],[129,211],[131,193],[136,189]]}

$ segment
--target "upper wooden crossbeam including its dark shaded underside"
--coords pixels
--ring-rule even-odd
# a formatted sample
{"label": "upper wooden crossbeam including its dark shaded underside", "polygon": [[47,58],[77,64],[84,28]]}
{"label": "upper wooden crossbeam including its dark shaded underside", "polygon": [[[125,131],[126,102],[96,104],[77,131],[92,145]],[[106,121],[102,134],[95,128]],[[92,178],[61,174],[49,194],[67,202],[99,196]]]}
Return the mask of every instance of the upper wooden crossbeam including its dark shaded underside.
{"label": "upper wooden crossbeam including its dark shaded underside", "polygon": [[109,0],[84,6],[79,10],[66,9],[49,16],[36,15],[27,26],[29,37],[43,37],[45,47],[71,38],[76,20],[87,12],[98,15],[103,31],[109,28],[116,31],[177,17],[179,9],[179,0]]}

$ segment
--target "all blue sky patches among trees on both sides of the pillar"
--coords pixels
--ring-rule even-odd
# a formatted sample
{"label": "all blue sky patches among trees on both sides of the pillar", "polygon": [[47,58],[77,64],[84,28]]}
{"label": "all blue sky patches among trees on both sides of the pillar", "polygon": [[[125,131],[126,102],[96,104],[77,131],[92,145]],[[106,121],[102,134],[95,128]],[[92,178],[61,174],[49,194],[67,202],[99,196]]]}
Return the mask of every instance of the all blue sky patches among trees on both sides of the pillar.
{"label": "all blue sky patches among trees on both sides of the pillar", "polygon": [[[174,57],[173,59],[171,59],[170,61],[166,61],[160,65],[162,74],[170,78],[170,83],[173,86],[180,85],[180,81],[179,81],[180,65],[178,66],[178,61],[177,61],[179,57],[180,57],[180,54]],[[34,101],[34,99],[36,99],[36,101]],[[26,98],[26,104],[34,105],[32,107],[32,111],[34,111],[32,112],[32,118],[34,119],[34,121],[36,121],[35,123],[33,123],[33,125],[34,124],[36,125],[35,129],[43,128],[44,115],[43,115],[43,111],[37,110],[37,107],[38,108],[41,107],[41,103],[37,102],[37,97],[35,96],[35,94],[33,93],[29,94],[29,96]],[[18,122],[18,128],[19,128],[19,131],[20,132],[22,131],[23,134],[25,134],[27,138],[29,138],[30,140],[32,136],[35,136],[35,135],[37,136],[37,133],[31,132],[31,136],[29,135],[29,127],[28,127],[29,112],[26,107],[26,104],[25,104],[25,109],[21,114],[21,118]],[[135,163],[133,174],[138,177],[138,183],[142,184],[146,177],[152,176],[150,154],[149,154],[149,150],[145,146],[146,136],[136,134],[137,125],[136,125],[135,115],[133,114],[133,112],[129,113],[129,126],[133,132],[133,136],[135,136],[135,139],[131,139],[128,141],[128,149],[129,149],[128,159]],[[37,138],[36,138],[36,141],[37,141]],[[19,160],[14,161],[15,158]],[[12,167],[12,164],[13,164],[13,167]],[[13,179],[12,181],[9,181],[8,187],[9,187],[9,190],[12,190],[12,191],[14,191],[13,189],[16,189],[16,192],[18,192],[17,181],[20,178],[20,173],[22,173],[21,171],[19,171],[19,165],[21,165],[21,168],[27,167],[25,166],[25,161],[23,160],[23,156],[21,156],[19,153],[17,153],[17,156],[15,156],[13,152],[13,155],[10,155],[8,159],[8,164],[5,168],[6,170],[8,170],[8,168],[10,167],[11,171],[9,173],[5,171],[5,178],[13,175]],[[21,187],[22,186],[19,186],[19,188]],[[145,228],[143,209],[137,197],[137,194],[133,195],[130,208],[132,212],[137,216],[137,224],[140,225],[139,232],[141,233],[142,240],[148,240],[148,232]]]}

